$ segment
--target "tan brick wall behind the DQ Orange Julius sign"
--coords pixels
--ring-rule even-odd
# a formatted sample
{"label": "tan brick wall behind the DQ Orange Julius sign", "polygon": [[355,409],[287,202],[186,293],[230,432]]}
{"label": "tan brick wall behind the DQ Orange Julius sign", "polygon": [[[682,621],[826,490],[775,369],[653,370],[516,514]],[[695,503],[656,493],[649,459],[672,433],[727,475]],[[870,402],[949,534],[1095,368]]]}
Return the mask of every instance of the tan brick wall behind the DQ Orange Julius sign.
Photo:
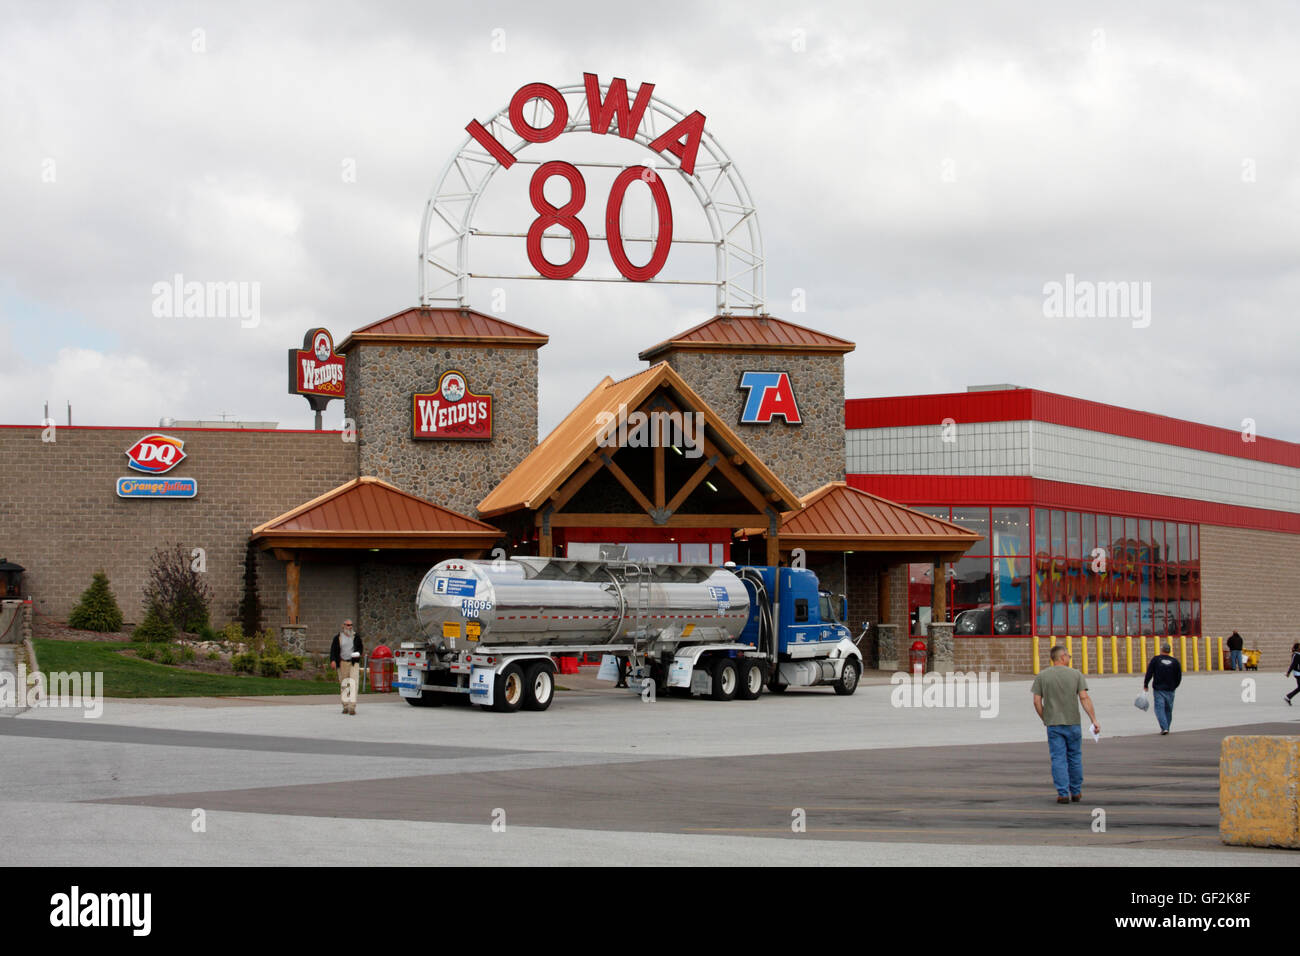
{"label": "tan brick wall behind the DQ Orange Julius sign", "polygon": [[[192,477],[192,499],[118,498],[133,475],[127,447],[151,432],[185,441],[176,476]],[[38,614],[64,620],[91,575],[103,568],[127,622],[143,615],[142,589],[155,549],[179,542],[207,551],[212,620],[224,626],[243,593],[244,545],[252,528],[356,477],[356,445],[338,432],[194,428],[0,428],[0,558],[27,568],[23,592]],[[351,567],[304,564],[303,623],[312,645],[356,613]],[[285,572],[259,559],[266,626],[285,622]],[[333,630],[332,630],[333,628]],[[326,639],[328,640],[328,639]]]}

